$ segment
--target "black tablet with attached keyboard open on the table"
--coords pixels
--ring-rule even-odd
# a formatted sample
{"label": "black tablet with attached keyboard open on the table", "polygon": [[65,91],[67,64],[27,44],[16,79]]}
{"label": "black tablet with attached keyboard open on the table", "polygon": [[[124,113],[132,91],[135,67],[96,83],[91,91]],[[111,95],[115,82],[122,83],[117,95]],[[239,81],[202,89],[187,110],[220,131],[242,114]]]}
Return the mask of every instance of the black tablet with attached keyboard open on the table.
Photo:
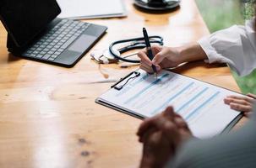
{"label": "black tablet with attached keyboard open on the table", "polygon": [[8,51],[30,60],[72,67],[101,39],[106,27],[60,19],[56,0],[1,0]]}

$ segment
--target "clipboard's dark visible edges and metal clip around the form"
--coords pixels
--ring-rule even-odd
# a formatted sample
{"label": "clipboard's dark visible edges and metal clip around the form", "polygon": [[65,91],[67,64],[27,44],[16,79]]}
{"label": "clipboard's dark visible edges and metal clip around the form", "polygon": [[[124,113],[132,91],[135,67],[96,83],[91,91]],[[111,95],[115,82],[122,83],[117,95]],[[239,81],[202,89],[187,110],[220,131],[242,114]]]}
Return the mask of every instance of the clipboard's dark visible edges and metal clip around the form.
{"label": "clipboard's dark visible edges and metal clip around the form", "polygon": [[[173,73],[173,72],[172,72],[172,73]],[[132,71],[132,72],[130,72],[127,76],[124,76],[123,78],[121,78],[120,81],[117,81],[117,83],[115,83],[114,85],[112,85],[112,87],[111,87],[110,90],[116,89],[116,90],[119,90],[119,91],[120,91],[120,90],[123,89],[123,87],[124,87],[125,85],[127,85],[128,81],[130,81],[131,79],[136,78],[136,77],[138,77],[138,76],[139,76],[139,75],[138,75],[138,71]],[[183,76],[183,75],[179,75],[179,76]],[[189,77],[189,76],[184,76],[184,77],[187,77],[187,78],[189,78],[189,79],[191,79],[191,80],[200,81],[200,80],[194,79],[194,78]],[[124,85],[123,85],[123,84],[121,85],[122,82],[123,82]],[[211,86],[217,87],[217,86],[215,86],[215,85],[213,85],[213,84],[210,84],[210,83],[208,83],[208,82],[205,82],[205,81],[201,81],[201,82],[204,82],[204,83],[207,84],[207,85],[211,85]],[[119,85],[119,86],[118,86],[118,85]],[[121,86],[121,87],[120,87],[120,86]],[[229,89],[226,89],[226,88],[224,88],[224,87],[219,87],[219,88],[225,89],[226,91],[233,92],[233,91],[231,91],[231,90],[229,90]],[[242,94],[240,94],[240,93],[238,93],[238,92],[234,92],[234,93],[237,93],[237,94],[239,94],[239,95],[242,95]],[[242,95],[242,96],[243,96],[243,95]],[[128,115],[133,116],[133,117],[135,117],[135,118],[139,118],[139,119],[147,118],[146,116],[144,116],[144,115],[141,114],[141,113],[136,113],[136,112],[134,112],[133,110],[131,110],[131,109],[129,109],[129,108],[123,108],[123,106],[120,106],[120,105],[118,105],[118,104],[116,104],[116,103],[113,103],[113,102],[106,101],[105,99],[102,99],[101,97],[97,97],[97,98],[95,99],[95,102],[98,103],[98,104],[101,104],[101,105],[103,105],[103,106],[105,106],[105,107],[107,107],[107,108],[112,108],[112,109],[117,110],[117,111],[119,111],[119,112],[121,112],[121,113],[128,114]],[[235,118],[231,119],[231,121],[226,125],[226,127],[225,127],[219,134],[227,134],[228,132],[230,132],[231,129],[236,125],[236,123],[237,123],[241,118],[242,118],[242,113],[237,114],[237,116],[236,116]]]}

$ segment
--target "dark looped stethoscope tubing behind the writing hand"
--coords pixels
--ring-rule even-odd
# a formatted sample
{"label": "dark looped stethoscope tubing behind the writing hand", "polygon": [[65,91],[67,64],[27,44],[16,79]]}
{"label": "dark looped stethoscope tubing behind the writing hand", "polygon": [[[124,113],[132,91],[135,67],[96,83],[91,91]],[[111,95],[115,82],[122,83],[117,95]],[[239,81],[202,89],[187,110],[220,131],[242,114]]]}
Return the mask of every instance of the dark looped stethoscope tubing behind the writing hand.
{"label": "dark looped stethoscope tubing behind the writing hand", "polygon": [[[156,45],[164,45],[163,43],[163,38],[161,36],[155,35],[155,36],[150,36],[150,43],[151,44],[156,44]],[[129,45],[120,48],[120,49],[114,49],[114,46],[120,45],[123,43],[128,43],[130,42]],[[131,62],[131,63],[139,63],[139,60],[130,60],[128,59],[129,56],[124,56],[121,57],[121,55],[129,50],[137,50],[137,49],[144,49],[146,47],[145,42],[144,42],[144,37],[140,38],[133,38],[133,39],[122,39],[113,42],[111,45],[109,45],[109,51],[110,53],[117,59],[117,60],[123,60],[125,62]]]}

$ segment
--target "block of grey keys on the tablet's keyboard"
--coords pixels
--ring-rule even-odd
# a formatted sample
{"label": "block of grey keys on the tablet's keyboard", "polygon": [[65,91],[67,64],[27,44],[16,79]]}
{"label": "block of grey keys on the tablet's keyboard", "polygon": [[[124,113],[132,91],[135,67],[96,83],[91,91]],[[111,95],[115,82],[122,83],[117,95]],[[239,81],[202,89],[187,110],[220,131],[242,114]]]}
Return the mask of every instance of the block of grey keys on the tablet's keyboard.
{"label": "block of grey keys on the tablet's keyboard", "polygon": [[71,45],[90,24],[63,19],[23,54],[39,60],[53,61]]}

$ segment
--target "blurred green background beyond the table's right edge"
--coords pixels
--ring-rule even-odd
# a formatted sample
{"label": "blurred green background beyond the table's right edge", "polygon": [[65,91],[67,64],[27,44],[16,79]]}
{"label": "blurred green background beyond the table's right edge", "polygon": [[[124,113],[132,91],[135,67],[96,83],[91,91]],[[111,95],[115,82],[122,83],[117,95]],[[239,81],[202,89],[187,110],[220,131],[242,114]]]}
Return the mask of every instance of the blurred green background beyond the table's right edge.
{"label": "blurred green background beyond the table's right edge", "polygon": [[[256,0],[196,0],[210,33],[228,28],[233,24],[243,25],[246,20],[252,19],[255,2]],[[256,94],[256,70],[248,76],[237,76],[234,71],[232,75],[243,93]]]}

